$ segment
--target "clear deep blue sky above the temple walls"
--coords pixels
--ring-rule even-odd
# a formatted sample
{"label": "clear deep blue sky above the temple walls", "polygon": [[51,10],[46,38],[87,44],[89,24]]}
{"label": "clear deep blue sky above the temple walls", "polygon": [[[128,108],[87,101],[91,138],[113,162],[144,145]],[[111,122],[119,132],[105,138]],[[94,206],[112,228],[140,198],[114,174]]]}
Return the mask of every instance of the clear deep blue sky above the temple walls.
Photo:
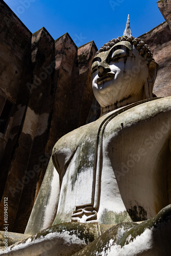
{"label": "clear deep blue sky above the temple walls", "polygon": [[45,27],[54,39],[68,32],[79,47],[94,40],[99,49],[123,35],[130,14],[133,36],[140,36],[164,22],[156,0],[5,0],[36,32]]}

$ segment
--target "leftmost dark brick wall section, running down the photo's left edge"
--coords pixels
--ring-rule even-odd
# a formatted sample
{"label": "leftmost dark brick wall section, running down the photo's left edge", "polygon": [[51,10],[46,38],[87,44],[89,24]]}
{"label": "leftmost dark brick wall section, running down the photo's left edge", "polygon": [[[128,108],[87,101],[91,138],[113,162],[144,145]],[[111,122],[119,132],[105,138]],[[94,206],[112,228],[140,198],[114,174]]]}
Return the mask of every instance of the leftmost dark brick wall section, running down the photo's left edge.
{"label": "leftmost dark brick wall section, running down the photo's left edge", "polygon": [[[17,139],[24,120],[28,101],[29,90],[27,89],[26,81],[31,80],[30,69],[28,69],[28,67],[31,63],[32,34],[25,25],[20,22],[18,17],[10,10],[4,1],[0,2],[0,12],[1,124],[4,119],[2,117],[3,111],[8,104],[11,106],[11,108],[7,108],[4,113],[4,116],[8,117],[6,129],[1,130],[0,133],[0,194],[2,198],[8,170],[15,148],[17,147]],[[16,173],[13,173],[13,178],[14,177],[17,178]],[[10,187],[8,187],[8,189],[9,188]],[[0,218],[3,218],[3,204],[1,204],[0,207]],[[9,218],[11,217],[9,216]]]}

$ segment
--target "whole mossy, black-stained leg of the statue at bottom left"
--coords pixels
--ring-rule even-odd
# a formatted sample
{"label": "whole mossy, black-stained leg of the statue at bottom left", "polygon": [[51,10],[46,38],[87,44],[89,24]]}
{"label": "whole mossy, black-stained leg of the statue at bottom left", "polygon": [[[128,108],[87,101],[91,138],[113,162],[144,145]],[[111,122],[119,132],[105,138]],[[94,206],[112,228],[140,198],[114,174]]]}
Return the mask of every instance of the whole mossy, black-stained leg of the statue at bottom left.
{"label": "whole mossy, black-stained leg of the statue at bottom left", "polygon": [[100,234],[98,224],[62,223],[10,246],[5,252],[2,248],[0,254],[70,256],[93,242]]}

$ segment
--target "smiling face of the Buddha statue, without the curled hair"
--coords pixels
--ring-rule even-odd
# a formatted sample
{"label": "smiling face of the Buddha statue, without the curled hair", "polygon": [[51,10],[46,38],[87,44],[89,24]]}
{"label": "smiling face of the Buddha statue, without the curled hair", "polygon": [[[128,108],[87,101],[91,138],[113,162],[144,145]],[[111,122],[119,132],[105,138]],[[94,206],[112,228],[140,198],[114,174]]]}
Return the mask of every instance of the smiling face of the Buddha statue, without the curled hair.
{"label": "smiling face of the Buddha statue, without the curled hair", "polygon": [[93,59],[91,72],[93,92],[102,108],[146,98],[144,84],[148,79],[148,67],[128,41],[118,42],[110,50],[100,52]]}

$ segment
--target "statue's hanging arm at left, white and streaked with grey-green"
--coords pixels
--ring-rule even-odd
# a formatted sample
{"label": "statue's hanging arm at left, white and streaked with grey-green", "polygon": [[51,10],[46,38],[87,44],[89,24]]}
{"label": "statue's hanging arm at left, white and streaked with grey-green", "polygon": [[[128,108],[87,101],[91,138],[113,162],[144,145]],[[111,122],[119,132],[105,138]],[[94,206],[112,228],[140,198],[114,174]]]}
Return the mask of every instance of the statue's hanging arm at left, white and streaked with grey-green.
{"label": "statue's hanging arm at left, white and streaked with grey-green", "polygon": [[59,175],[53,166],[52,158],[50,158],[44,180],[42,181],[26,227],[26,234],[35,234],[42,229],[52,226],[57,212],[59,193]]}

